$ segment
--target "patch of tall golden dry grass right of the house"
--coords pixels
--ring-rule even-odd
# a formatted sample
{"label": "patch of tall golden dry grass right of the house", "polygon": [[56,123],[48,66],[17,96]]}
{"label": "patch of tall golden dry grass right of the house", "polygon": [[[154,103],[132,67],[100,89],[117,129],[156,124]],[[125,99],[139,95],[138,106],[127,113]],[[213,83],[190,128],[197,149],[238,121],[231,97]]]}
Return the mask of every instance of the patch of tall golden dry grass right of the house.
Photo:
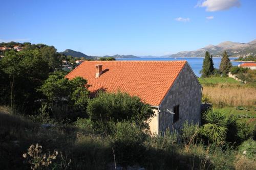
{"label": "patch of tall golden dry grass right of the house", "polygon": [[256,88],[218,84],[204,86],[203,94],[210,98],[210,102],[217,106],[256,106]]}

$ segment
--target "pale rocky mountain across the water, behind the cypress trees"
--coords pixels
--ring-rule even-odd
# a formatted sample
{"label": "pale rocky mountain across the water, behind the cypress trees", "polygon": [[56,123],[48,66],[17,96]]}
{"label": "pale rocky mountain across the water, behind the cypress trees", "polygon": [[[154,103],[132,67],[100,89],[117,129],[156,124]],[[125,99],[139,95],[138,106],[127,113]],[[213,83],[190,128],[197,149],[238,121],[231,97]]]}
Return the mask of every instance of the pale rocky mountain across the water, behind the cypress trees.
{"label": "pale rocky mountain across the water, behind the cypress trees", "polygon": [[254,56],[256,55],[256,39],[248,43],[225,41],[218,45],[207,45],[196,51],[179,52],[166,57],[204,57],[206,51],[214,57],[221,57],[224,51],[227,51],[230,57]]}

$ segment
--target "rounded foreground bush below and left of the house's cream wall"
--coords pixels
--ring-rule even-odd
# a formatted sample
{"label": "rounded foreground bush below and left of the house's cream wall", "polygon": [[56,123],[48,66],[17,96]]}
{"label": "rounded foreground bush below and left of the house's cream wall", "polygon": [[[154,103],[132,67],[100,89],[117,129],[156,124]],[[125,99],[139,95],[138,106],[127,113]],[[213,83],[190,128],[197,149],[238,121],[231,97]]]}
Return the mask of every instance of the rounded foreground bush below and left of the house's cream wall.
{"label": "rounded foreground bush below and left of the house's cream wall", "polygon": [[111,136],[117,163],[133,165],[144,158],[144,141],[147,135],[136,124],[118,122]]}

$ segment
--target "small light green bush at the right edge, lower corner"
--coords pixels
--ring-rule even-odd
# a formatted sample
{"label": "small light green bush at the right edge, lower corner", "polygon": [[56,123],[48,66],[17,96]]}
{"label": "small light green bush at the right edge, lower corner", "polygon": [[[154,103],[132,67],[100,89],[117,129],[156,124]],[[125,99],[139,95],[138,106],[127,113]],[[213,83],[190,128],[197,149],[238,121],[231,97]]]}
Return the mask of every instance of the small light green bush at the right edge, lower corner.
{"label": "small light green bush at the right edge, lower corner", "polygon": [[254,159],[256,161],[256,141],[248,139],[244,141],[240,146],[238,151],[243,154],[246,151],[246,157]]}

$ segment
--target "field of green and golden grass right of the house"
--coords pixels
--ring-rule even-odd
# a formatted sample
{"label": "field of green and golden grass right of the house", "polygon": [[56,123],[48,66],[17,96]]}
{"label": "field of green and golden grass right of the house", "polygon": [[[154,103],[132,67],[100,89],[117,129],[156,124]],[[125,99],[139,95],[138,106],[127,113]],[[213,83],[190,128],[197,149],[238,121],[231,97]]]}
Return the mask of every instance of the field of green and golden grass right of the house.
{"label": "field of green and golden grass right of the house", "polygon": [[256,87],[242,84],[232,78],[198,78],[203,85],[203,95],[218,107],[256,106]]}

